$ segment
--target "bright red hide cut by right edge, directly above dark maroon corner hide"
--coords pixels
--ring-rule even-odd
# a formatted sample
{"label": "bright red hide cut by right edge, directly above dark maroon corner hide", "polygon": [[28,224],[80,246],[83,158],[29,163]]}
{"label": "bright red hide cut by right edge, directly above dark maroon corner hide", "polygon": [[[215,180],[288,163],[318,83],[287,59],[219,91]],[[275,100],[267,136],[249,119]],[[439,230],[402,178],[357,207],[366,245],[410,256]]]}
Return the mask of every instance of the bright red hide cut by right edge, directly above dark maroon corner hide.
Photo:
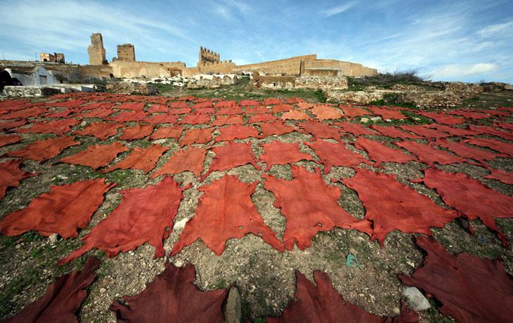
{"label": "bright red hide cut by right edge, directly above dark maroon corner hide", "polygon": [[498,232],[502,244],[507,244],[507,237],[495,225],[495,218],[513,217],[513,197],[492,190],[479,180],[462,173],[446,173],[435,169],[427,169],[424,173],[424,184],[436,190],[443,202],[469,220],[480,218],[484,225]]}

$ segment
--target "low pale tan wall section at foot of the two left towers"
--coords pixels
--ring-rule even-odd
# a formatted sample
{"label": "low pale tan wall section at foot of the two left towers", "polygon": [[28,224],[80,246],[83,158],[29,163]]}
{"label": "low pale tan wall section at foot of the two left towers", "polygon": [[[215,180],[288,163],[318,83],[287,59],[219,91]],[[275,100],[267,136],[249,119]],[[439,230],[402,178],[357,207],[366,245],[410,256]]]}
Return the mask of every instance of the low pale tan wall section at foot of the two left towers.
{"label": "low pale tan wall section at foot of the two left towers", "polygon": [[112,74],[119,78],[174,77],[186,68],[184,62],[128,62],[116,60],[109,64]]}

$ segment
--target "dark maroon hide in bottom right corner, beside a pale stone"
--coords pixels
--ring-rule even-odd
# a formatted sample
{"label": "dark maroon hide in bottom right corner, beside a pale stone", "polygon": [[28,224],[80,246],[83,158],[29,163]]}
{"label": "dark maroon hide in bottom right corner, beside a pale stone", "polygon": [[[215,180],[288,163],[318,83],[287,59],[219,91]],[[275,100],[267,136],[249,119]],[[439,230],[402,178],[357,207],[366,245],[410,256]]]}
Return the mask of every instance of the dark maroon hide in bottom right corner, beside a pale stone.
{"label": "dark maroon hide in bottom right corner, beside a pale stone", "polygon": [[457,322],[510,322],[513,279],[502,261],[481,259],[468,253],[453,256],[432,238],[417,237],[427,251],[424,267],[412,277],[399,275],[403,284],[434,295],[444,315]]}

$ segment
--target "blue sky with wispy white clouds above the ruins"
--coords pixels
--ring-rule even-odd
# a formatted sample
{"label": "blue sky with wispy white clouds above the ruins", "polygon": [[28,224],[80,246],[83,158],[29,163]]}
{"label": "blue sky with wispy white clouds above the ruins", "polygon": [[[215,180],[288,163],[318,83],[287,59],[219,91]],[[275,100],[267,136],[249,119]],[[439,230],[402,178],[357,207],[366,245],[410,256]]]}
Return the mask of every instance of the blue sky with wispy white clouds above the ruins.
{"label": "blue sky with wispy white clouds above the ruins", "polygon": [[100,32],[109,61],[117,44],[131,43],[136,60],[195,66],[202,45],[238,65],[317,53],[380,72],[513,83],[512,0],[0,0],[0,8],[6,59],[63,52],[86,64],[89,37]]}

